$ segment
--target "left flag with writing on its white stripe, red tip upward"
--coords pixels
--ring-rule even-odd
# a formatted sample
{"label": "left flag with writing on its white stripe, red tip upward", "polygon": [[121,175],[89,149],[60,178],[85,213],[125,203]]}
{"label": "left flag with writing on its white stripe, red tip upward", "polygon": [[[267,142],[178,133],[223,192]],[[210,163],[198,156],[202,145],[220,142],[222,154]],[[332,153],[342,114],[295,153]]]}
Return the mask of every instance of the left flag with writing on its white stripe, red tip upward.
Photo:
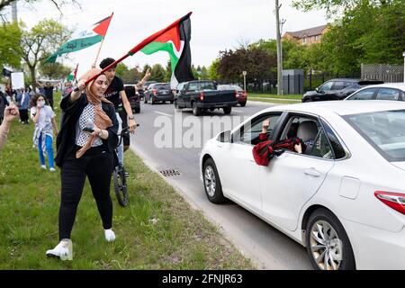
{"label": "left flag with writing on its white stripe, red tip upward", "polygon": [[59,49],[47,58],[46,62],[55,63],[58,56],[71,52],[76,52],[81,49],[88,48],[100,41],[102,41],[107,33],[108,26],[110,25],[112,15],[104,18],[103,20],[94,23],[86,31],[81,31],[71,40],[68,40],[65,44],[59,47]]}

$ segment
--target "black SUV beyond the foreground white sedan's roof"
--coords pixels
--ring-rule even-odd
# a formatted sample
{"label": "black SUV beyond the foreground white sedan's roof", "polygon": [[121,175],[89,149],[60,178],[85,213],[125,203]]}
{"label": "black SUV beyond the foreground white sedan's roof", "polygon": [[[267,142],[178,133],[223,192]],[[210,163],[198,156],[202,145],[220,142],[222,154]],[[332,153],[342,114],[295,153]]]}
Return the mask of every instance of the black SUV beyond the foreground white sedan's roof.
{"label": "black SUV beyond the foreground white sedan's roof", "polygon": [[308,91],[303,94],[302,102],[343,100],[365,85],[373,84],[383,84],[383,81],[347,78],[331,79],[317,87],[315,91]]}

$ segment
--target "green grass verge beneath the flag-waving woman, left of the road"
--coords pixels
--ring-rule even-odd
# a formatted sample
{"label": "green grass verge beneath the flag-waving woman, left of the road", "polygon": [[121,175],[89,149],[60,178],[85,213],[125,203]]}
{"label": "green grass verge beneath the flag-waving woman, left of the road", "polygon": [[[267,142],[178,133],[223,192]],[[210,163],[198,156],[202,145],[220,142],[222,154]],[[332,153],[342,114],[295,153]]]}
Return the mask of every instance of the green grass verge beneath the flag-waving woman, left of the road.
{"label": "green grass verge beneath the flag-waving woman, left of the road", "polygon": [[[57,116],[57,119],[59,117]],[[72,231],[73,261],[47,258],[58,243],[60,176],[40,169],[33,124],[14,122],[0,152],[0,269],[253,269],[218,229],[132,152],[129,205],[112,192],[113,229],[107,243],[89,184]],[[156,224],[149,220],[158,219]]]}

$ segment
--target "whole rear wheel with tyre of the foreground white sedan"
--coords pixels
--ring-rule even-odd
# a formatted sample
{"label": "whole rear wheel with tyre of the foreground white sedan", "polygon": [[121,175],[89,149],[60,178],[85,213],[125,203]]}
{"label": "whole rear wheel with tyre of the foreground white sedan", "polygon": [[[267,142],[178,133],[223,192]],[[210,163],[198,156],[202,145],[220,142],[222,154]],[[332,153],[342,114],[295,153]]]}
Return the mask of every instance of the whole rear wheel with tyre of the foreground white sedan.
{"label": "whole rear wheel with tyre of the foreground white sedan", "polygon": [[355,257],[338,218],[326,209],[314,211],[306,230],[307,252],[317,270],[354,270]]}

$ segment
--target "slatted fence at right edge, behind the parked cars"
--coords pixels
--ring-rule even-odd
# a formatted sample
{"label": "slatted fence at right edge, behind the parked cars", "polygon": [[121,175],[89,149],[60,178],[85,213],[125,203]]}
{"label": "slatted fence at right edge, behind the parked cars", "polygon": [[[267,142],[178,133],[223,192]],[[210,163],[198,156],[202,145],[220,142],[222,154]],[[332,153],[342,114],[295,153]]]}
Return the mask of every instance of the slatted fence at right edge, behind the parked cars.
{"label": "slatted fence at right edge, behind the parked cars", "polygon": [[403,74],[402,65],[362,64],[362,79],[403,82]]}

